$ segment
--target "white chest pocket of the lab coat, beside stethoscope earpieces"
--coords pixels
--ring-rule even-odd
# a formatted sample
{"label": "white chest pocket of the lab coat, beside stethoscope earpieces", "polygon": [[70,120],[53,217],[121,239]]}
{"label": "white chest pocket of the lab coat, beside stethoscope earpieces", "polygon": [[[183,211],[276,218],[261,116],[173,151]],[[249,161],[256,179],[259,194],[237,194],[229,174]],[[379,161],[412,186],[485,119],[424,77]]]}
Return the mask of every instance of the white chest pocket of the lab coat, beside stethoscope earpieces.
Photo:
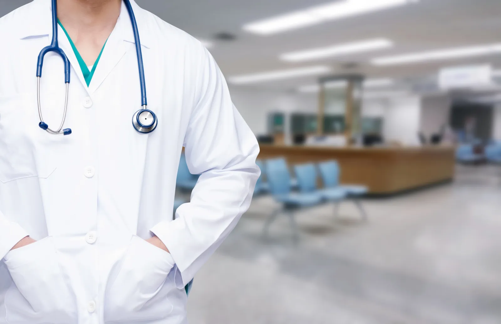
{"label": "white chest pocket of the lab coat, beside stethoscope earpieces", "polygon": [[59,139],[40,129],[39,121],[35,95],[0,97],[0,182],[47,178],[56,169],[51,141]]}

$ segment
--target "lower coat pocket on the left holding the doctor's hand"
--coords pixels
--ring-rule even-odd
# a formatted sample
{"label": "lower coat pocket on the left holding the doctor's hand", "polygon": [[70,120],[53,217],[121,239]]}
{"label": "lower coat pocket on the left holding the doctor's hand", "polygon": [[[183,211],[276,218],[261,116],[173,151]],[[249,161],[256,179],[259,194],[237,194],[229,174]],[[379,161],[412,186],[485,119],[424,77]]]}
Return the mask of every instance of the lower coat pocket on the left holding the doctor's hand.
{"label": "lower coat pocket on the left holding the doctor's hand", "polygon": [[76,298],[52,237],[10,251],[5,263],[15,283],[5,299],[10,324],[77,322]]}

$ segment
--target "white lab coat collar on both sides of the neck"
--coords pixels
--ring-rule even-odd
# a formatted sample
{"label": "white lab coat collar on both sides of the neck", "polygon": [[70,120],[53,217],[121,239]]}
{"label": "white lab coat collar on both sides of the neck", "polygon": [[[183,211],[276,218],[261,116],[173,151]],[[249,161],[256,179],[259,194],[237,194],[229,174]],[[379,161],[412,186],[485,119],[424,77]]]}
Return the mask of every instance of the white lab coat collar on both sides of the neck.
{"label": "white lab coat collar on both sides of the neck", "polygon": [[[130,0],[130,2],[132,9],[134,10],[134,15],[136,16],[141,45],[143,48],[151,48],[153,39],[151,38],[150,33],[145,31],[148,27],[145,11],[137,5],[134,0]],[[19,38],[27,39],[40,36],[49,36],[49,38],[52,38],[51,0],[34,0],[23,6],[21,10],[23,14],[27,14],[30,18],[28,20],[29,23],[27,23],[27,21],[22,21],[16,28],[19,32]],[[135,43],[129,13],[127,12],[127,8],[123,2],[119,20],[120,19],[126,19],[129,23],[129,27],[124,26],[121,30],[122,39],[127,42]]]}

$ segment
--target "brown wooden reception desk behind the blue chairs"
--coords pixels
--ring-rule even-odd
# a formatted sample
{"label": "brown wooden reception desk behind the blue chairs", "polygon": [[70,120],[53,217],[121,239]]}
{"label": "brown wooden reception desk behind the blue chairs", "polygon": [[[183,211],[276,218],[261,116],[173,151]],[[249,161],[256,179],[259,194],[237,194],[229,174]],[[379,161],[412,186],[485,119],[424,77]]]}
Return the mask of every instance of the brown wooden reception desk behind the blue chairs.
{"label": "brown wooden reception desk behind the blue chairs", "polygon": [[341,183],[364,184],[388,195],[454,177],[454,147],[323,147],[261,144],[259,159],[283,156],[289,165],[335,159]]}

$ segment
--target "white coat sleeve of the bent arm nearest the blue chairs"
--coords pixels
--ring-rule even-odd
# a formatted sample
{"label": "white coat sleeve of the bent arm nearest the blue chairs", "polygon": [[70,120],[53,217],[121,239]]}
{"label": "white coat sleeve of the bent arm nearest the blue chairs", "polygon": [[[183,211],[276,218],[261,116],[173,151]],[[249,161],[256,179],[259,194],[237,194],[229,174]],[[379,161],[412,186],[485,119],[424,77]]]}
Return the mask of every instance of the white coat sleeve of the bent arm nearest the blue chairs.
{"label": "white coat sleeve of the bent arm nearest the blue chairs", "polygon": [[184,284],[205,263],[247,210],[261,170],[256,136],[231,102],[226,81],[203,48],[195,103],[184,138],[186,162],[201,174],[176,219],[151,231],[169,249]]}

